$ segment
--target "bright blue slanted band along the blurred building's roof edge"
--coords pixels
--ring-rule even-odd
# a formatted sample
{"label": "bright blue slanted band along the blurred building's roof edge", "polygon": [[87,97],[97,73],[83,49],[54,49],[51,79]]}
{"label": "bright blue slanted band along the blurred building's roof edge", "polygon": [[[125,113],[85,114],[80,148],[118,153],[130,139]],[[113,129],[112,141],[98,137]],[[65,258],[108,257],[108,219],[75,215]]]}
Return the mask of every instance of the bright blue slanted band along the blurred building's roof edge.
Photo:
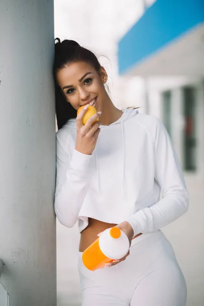
{"label": "bright blue slanted band along the blurred building's roof edge", "polygon": [[202,22],[203,0],[157,0],[119,41],[119,72],[127,72]]}

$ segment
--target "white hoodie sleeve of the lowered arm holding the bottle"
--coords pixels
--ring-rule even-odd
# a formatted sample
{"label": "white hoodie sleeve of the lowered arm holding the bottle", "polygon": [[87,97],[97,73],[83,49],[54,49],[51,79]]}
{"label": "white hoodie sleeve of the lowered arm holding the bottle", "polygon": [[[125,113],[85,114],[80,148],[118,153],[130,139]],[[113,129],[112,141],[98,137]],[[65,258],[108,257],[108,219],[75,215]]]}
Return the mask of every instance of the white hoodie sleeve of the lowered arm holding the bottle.
{"label": "white hoodie sleeve of the lowered arm holding the bottle", "polygon": [[155,131],[155,180],[160,185],[163,198],[126,219],[132,225],[134,235],[159,230],[188,210],[189,197],[182,169],[170,137],[159,119]]}

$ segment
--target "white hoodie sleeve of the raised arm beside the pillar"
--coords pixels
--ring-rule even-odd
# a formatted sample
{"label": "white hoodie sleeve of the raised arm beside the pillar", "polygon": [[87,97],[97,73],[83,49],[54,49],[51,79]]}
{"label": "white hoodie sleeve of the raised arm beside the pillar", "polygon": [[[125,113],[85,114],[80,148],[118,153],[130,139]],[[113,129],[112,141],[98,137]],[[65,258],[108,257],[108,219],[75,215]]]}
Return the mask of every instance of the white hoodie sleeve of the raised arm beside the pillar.
{"label": "white hoodie sleeve of the raised arm beside the pillar", "polygon": [[88,190],[87,176],[91,157],[75,149],[69,157],[57,134],[55,213],[60,223],[67,227],[72,227],[78,221],[78,214]]}

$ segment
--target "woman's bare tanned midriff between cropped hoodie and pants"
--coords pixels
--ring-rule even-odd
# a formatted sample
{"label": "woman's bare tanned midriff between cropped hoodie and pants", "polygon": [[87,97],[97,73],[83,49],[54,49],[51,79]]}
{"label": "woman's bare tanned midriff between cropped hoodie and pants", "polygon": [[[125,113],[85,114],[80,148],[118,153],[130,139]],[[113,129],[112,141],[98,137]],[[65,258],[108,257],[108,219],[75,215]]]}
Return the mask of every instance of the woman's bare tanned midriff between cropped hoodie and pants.
{"label": "woman's bare tanned midriff between cropped hoodie and pants", "polygon": [[[81,232],[81,239],[80,239],[80,252],[84,252],[87,247],[89,247],[97,238],[98,234],[105,231],[107,228],[116,226],[117,224],[114,223],[106,223],[96,219],[89,218],[88,226]],[[141,234],[136,235],[133,237],[140,236]]]}

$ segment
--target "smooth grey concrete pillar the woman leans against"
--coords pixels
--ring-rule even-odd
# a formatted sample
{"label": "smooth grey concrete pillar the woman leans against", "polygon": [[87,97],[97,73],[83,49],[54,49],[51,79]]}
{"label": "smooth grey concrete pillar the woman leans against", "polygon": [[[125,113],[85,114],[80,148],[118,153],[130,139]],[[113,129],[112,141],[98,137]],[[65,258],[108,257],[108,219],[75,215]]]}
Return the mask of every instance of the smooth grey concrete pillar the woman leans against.
{"label": "smooth grey concrete pillar the woman leans against", "polygon": [[56,306],[53,0],[0,5],[0,258],[10,306]]}

